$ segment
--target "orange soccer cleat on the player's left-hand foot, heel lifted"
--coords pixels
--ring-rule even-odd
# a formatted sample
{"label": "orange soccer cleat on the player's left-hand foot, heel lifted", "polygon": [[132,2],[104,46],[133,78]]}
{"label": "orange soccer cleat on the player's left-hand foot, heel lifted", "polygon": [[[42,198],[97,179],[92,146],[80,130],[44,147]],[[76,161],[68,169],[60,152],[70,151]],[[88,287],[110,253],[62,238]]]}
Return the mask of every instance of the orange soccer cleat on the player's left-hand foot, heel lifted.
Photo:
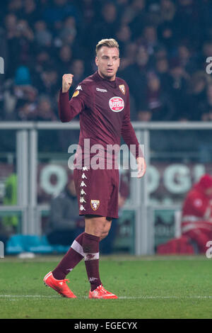
{"label": "orange soccer cleat on the player's left-hand foot, heel lifted", "polygon": [[56,278],[54,278],[52,272],[50,271],[44,277],[43,281],[46,286],[56,290],[57,293],[59,293],[61,296],[66,298],[76,298],[76,295],[74,295],[69,289],[69,287],[66,285],[66,282],[69,282],[67,278],[64,278],[64,280],[57,280]]}

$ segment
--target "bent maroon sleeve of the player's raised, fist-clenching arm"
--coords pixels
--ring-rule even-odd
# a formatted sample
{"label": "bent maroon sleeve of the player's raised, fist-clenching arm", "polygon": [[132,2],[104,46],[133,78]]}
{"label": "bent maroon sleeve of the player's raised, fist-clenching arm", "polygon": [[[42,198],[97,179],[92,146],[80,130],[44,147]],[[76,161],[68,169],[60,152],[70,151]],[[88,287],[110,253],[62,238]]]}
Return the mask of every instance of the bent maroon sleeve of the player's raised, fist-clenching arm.
{"label": "bent maroon sleeve of the player's raised, fist-clenching arm", "polygon": [[63,93],[59,91],[59,119],[62,123],[68,123],[71,121],[78,113],[81,113],[83,109],[88,106],[90,101],[90,93],[88,89],[88,84],[81,83],[77,86],[69,101],[69,91]]}

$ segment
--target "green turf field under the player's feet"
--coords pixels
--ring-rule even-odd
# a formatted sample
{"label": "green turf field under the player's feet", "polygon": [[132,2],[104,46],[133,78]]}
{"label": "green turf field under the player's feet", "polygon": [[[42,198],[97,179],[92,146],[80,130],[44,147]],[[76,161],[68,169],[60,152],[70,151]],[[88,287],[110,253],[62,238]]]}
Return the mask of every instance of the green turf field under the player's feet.
{"label": "green turf field under the player's feet", "polygon": [[42,278],[61,258],[0,259],[0,318],[212,318],[212,259],[206,256],[105,256],[100,275],[118,300],[89,300],[84,262],[69,273],[78,299]]}

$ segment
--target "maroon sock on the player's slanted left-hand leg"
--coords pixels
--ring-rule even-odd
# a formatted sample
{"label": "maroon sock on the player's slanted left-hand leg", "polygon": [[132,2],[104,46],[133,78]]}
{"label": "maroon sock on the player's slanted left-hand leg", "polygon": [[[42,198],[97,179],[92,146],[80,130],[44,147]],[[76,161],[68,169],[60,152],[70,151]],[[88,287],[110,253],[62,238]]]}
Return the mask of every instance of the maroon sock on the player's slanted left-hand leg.
{"label": "maroon sock on the player's slanted left-hand leg", "polygon": [[59,262],[56,269],[52,271],[54,278],[63,280],[66,275],[83,259],[83,235],[78,235],[71,244],[69,251],[64,255],[63,259]]}

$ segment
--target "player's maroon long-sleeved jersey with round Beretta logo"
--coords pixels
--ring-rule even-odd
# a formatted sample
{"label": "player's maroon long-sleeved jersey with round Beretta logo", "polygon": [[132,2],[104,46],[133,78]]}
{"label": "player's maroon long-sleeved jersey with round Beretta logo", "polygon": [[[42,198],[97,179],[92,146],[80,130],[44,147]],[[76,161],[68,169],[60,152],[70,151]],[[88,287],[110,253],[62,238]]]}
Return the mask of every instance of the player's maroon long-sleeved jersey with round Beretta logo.
{"label": "player's maroon long-sleeved jersey with round Beretta logo", "polygon": [[129,87],[123,79],[102,79],[98,72],[78,84],[69,101],[69,92],[59,94],[59,118],[69,122],[80,117],[78,145],[83,149],[84,139],[92,145],[120,145],[121,136],[130,148],[134,145],[135,157],[143,156],[134,128],[130,122]]}

